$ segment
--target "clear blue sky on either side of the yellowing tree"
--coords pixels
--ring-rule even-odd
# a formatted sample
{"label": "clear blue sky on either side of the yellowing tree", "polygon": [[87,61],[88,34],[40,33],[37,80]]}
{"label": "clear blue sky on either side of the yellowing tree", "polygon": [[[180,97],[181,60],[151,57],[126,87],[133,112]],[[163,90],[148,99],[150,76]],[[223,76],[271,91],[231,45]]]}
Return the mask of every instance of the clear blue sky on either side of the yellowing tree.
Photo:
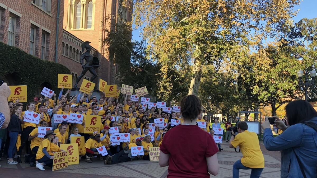
{"label": "clear blue sky on either side of the yellowing tree", "polygon": [[[302,18],[314,18],[317,17],[317,0],[303,0],[301,1],[301,5],[295,6],[294,9],[300,9],[297,16],[293,18],[294,22],[298,22]],[[140,40],[140,30],[133,29],[132,31],[132,40],[139,41]]]}

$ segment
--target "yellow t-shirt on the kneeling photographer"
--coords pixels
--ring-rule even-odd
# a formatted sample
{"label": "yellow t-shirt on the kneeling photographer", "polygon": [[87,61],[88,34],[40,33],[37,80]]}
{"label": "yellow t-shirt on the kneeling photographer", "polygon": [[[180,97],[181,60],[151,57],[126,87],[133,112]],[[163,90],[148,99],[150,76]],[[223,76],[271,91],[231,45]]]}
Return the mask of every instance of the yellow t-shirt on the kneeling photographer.
{"label": "yellow t-shirt on the kneeling photographer", "polygon": [[241,163],[249,168],[264,168],[264,157],[259,145],[259,139],[255,132],[245,130],[236,135],[231,141],[235,148],[240,147],[243,157]]}

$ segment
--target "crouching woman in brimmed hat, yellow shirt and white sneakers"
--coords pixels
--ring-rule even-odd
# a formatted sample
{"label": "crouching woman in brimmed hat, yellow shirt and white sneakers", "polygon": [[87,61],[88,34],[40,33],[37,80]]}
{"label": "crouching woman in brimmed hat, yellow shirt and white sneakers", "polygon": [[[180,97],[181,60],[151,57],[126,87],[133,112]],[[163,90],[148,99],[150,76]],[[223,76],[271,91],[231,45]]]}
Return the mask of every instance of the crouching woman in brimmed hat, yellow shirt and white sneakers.
{"label": "crouching woman in brimmed hat, yellow shirt and white sneakers", "polygon": [[55,137],[55,133],[53,130],[47,130],[46,134],[44,136],[44,140],[41,142],[39,149],[36,153],[36,161],[38,162],[36,164],[36,168],[39,168],[40,170],[44,171],[43,165],[53,167],[53,159],[54,156],[49,155],[49,150],[51,146],[51,141]]}

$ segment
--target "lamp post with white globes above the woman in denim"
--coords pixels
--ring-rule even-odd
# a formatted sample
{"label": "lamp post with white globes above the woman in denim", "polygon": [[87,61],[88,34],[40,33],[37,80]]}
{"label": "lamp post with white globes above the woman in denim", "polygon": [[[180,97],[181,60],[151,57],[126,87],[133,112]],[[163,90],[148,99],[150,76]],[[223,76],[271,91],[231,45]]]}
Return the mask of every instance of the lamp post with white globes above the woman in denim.
{"label": "lamp post with white globes above the woman in denim", "polygon": [[305,73],[304,76],[304,81],[303,81],[303,74],[304,72],[302,70],[299,70],[297,72],[297,77],[299,78],[299,89],[301,91],[305,90],[305,100],[307,101],[308,97],[307,97],[307,90],[310,86],[314,86],[314,78],[316,77],[316,71],[315,69],[313,69],[312,71],[309,72],[310,77],[312,78],[311,80],[308,80],[308,72]]}

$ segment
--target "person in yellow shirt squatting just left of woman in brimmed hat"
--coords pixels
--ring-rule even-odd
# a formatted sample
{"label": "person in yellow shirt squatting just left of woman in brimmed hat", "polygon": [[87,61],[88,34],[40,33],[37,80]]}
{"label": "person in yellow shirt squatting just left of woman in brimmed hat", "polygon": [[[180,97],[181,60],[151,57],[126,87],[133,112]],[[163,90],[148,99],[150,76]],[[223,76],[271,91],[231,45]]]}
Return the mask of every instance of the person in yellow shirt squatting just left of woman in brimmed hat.
{"label": "person in yellow shirt squatting just left of woman in brimmed hat", "polygon": [[[41,127],[47,127],[47,122],[45,120],[42,120],[40,122],[40,126]],[[30,148],[31,148],[31,154],[30,154],[30,166],[31,167],[35,167],[35,156],[36,156],[36,153],[37,153],[37,150],[39,149],[39,146],[41,144],[41,142],[43,141],[44,138],[40,138],[40,137],[37,137],[39,135],[39,132],[38,132],[38,128],[35,128],[31,131],[31,133],[29,134],[29,138],[28,138],[28,141],[31,142],[30,144]]]}

